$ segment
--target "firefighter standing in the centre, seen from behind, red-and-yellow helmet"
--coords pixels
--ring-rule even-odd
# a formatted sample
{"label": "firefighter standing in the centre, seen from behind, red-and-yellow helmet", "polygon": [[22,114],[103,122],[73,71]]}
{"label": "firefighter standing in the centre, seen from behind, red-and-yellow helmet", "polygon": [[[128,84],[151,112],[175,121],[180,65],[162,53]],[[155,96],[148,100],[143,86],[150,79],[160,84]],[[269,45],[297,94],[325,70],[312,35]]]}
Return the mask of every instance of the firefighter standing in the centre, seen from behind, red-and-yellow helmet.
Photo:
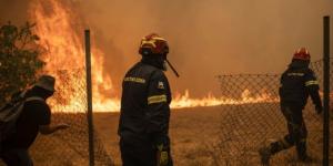
{"label": "firefighter standing in the centre, seen from behind, red-and-yellow helmet", "polygon": [[155,33],[141,40],[140,62],[122,82],[118,134],[123,166],[172,166],[169,139],[171,92],[164,71],[169,46]]}

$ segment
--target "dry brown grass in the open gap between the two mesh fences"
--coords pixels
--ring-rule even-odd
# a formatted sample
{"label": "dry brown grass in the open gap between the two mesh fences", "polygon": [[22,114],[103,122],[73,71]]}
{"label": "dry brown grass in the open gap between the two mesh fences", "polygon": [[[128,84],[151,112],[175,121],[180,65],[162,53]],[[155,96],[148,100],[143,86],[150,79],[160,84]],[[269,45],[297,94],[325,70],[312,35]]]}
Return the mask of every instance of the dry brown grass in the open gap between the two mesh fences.
{"label": "dry brown grass in the open gap between the two mesh fences", "polygon": [[[213,160],[206,145],[218,138],[222,112],[221,106],[172,111],[170,137],[174,165],[212,165]],[[113,157],[115,165],[121,165],[118,121],[118,113],[94,115],[95,127],[108,153]]]}

